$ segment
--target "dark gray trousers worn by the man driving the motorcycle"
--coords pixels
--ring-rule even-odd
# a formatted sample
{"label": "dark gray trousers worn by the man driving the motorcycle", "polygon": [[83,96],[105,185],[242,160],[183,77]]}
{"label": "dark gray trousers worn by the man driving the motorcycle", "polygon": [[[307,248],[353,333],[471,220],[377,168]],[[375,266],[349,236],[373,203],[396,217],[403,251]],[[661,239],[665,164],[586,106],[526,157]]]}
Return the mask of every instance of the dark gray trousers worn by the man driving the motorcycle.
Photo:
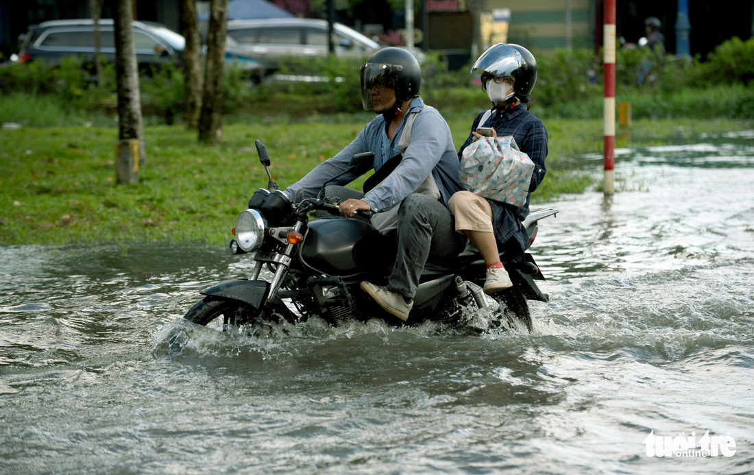
{"label": "dark gray trousers worn by the man driving the motorcycle", "polygon": [[458,256],[464,247],[466,239],[455,231],[445,205],[426,195],[408,195],[398,212],[398,253],[388,290],[413,299],[425,262]]}

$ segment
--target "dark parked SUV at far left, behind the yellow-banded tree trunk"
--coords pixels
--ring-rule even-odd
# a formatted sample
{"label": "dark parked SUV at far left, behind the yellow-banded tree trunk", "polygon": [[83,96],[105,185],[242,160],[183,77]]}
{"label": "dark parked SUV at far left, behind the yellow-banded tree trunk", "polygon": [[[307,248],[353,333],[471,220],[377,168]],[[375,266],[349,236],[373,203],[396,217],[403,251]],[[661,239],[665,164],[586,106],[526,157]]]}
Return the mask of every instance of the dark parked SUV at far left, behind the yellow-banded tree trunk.
{"label": "dark parked SUV at far left, behind the yellow-banded tree trunk", "polygon": [[[107,61],[115,61],[113,20],[100,20],[99,26],[100,54]],[[139,65],[179,63],[185,40],[160,23],[134,21],[133,44]],[[44,60],[54,64],[63,57],[94,60],[93,20],[51,20],[29,26],[18,54],[19,63]]]}

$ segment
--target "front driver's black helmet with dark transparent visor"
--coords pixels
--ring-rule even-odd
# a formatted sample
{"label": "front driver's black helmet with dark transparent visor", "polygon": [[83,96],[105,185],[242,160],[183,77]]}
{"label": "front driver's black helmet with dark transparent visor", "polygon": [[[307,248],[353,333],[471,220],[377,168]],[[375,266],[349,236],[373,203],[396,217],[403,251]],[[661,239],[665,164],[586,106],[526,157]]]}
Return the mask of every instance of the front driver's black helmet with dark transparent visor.
{"label": "front driver's black helmet with dark transparent visor", "polygon": [[361,65],[361,104],[364,110],[374,109],[372,87],[392,87],[395,90],[397,105],[419,95],[421,68],[409,51],[401,48],[383,48],[372,54],[367,63]]}

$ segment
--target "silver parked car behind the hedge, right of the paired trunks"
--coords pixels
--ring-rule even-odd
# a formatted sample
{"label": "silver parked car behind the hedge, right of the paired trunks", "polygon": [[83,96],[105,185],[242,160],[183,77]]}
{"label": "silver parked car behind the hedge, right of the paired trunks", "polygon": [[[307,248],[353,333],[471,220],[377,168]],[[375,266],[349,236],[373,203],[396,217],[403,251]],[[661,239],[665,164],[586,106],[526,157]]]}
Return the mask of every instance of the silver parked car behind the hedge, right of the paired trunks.
{"label": "silver parked car behind the hedge, right of the paired trunks", "polygon": [[[335,23],[336,54],[346,57],[369,57],[382,48],[354,29]],[[228,21],[225,51],[229,56],[252,58],[267,72],[280,69],[286,56],[326,56],[327,22],[311,18],[267,18]]]}

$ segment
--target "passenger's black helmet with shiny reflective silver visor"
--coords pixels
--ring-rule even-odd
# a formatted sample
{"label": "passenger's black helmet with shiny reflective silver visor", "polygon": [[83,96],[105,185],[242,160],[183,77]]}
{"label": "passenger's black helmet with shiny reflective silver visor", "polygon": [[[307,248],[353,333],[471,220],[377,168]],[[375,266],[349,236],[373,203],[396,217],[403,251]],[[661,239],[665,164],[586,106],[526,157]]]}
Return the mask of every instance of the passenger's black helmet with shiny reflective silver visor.
{"label": "passenger's black helmet with shiny reflective silver visor", "polygon": [[[537,60],[523,46],[513,43],[493,44],[471,66],[471,72],[482,69],[482,87],[492,78],[513,78],[515,96],[522,103],[529,102],[529,96],[537,81]],[[486,80],[486,81],[485,81]]]}

